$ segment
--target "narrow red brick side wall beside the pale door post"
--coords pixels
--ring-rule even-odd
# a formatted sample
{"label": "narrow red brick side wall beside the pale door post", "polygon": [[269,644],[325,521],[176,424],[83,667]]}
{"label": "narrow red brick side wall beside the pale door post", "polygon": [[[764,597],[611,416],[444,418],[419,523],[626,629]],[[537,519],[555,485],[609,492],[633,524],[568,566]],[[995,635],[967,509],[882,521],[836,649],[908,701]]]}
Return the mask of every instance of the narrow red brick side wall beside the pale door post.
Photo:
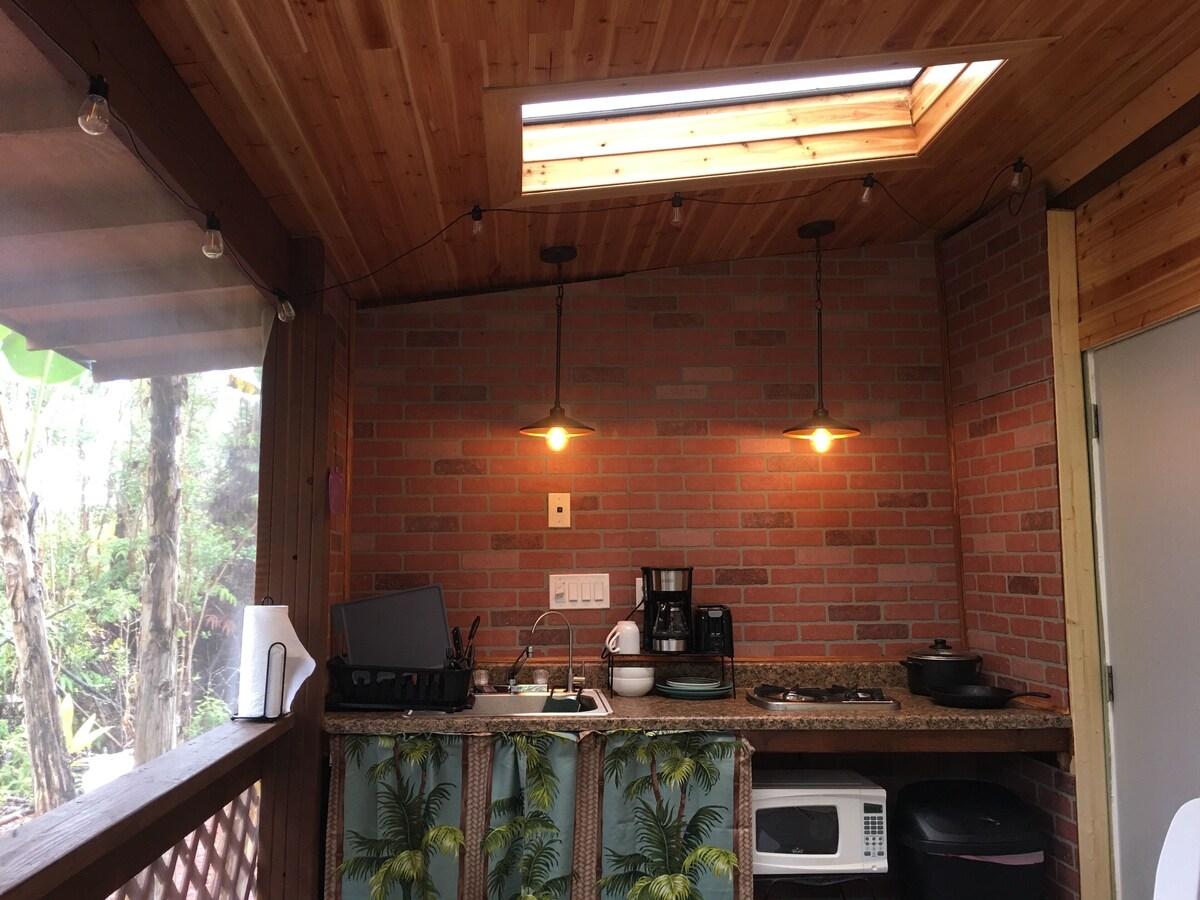
{"label": "narrow red brick side wall beside the pale door post", "polygon": [[1067,702],[1045,206],[946,241],[967,636],[990,680]]}

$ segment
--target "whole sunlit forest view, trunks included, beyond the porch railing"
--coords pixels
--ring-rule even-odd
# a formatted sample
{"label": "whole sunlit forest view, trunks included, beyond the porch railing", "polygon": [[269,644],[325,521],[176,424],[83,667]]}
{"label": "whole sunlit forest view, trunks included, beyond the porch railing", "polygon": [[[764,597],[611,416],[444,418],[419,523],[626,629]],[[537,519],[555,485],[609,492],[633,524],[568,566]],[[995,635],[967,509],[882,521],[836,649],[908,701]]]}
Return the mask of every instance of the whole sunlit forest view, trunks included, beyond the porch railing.
{"label": "whole sunlit forest view, trunks included, beyond the porch railing", "polygon": [[[54,354],[28,354],[18,335],[2,349],[5,491],[22,482],[61,738],[26,715],[6,535],[0,828],[131,768],[139,730],[164,733],[150,750],[140,736],[138,762],[228,721],[253,601],[260,412],[257,370],[94,384]],[[143,670],[169,704],[139,710]],[[31,752],[47,737],[70,773],[49,803]]]}

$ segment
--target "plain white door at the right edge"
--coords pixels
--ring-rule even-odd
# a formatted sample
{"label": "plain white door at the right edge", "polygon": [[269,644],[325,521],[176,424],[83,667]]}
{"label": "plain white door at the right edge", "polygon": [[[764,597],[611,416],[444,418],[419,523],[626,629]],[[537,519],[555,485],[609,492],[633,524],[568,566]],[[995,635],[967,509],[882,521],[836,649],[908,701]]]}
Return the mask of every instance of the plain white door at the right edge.
{"label": "plain white door at the right edge", "polygon": [[1117,886],[1146,900],[1200,797],[1200,314],[1091,356]]}

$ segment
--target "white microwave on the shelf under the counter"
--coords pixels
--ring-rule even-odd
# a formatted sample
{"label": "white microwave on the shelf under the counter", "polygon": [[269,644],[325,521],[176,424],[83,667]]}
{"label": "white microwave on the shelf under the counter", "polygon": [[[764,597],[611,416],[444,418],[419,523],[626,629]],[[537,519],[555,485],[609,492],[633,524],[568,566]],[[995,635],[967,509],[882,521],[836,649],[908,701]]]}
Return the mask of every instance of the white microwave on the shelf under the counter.
{"label": "white microwave on the shelf under the counter", "polygon": [[754,874],[883,874],[887,793],[845,769],[754,773]]}

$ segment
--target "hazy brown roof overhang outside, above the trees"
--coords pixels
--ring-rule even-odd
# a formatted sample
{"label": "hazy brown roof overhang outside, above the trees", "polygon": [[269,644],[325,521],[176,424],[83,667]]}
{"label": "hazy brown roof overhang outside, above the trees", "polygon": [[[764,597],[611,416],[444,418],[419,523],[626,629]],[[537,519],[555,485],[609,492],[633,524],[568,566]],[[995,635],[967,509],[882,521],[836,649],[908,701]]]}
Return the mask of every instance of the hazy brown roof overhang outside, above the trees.
{"label": "hazy brown roof overhang outside, above the trees", "polygon": [[259,365],[271,308],[118,124],[79,128],[85,85],[0,14],[0,322],[97,380]]}

